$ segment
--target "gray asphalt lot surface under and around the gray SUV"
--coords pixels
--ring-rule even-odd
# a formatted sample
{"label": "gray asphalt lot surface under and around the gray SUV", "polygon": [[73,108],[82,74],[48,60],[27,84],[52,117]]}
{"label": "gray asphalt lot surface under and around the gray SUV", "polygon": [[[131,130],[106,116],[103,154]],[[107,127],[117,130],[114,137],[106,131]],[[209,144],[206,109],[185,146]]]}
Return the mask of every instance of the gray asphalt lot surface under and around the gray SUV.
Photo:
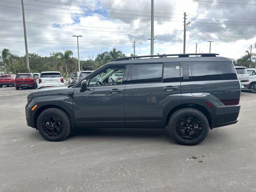
{"label": "gray asphalt lot surface under and around the gray SUV", "polygon": [[32,89],[0,88],[0,191],[256,191],[256,94],[242,92],[237,124],[196,146],[162,130],[79,130],[62,142],[26,125]]}

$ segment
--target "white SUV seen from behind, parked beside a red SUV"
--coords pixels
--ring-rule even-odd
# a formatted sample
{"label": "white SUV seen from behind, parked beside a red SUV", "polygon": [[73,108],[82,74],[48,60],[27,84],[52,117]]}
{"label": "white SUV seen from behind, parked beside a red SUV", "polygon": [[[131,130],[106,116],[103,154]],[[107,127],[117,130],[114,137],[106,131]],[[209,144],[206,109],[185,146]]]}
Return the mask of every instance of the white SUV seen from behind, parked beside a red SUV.
{"label": "white SUV seen from behind, parked beside a red SUV", "polygon": [[46,71],[40,74],[38,79],[38,89],[43,87],[53,87],[65,85],[64,79],[58,71]]}

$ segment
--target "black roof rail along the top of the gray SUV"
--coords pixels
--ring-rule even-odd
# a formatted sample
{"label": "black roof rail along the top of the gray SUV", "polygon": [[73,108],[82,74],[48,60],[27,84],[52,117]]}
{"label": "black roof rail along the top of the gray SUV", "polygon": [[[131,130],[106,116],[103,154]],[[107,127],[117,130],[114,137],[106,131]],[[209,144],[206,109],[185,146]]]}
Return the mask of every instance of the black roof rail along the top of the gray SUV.
{"label": "black roof rail along the top of the gray SUV", "polygon": [[191,53],[191,54],[165,54],[165,55],[143,55],[143,56],[134,56],[134,57],[120,57],[115,59],[114,61],[126,61],[130,59],[136,59],[136,58],[146,58],[146,57],[159,57],[159,58],[165,58],[167,56],[178,56],[178,57],[189,57],[189,56],[196,56],[200,55],[202,57],[216,57],[216,53]]}

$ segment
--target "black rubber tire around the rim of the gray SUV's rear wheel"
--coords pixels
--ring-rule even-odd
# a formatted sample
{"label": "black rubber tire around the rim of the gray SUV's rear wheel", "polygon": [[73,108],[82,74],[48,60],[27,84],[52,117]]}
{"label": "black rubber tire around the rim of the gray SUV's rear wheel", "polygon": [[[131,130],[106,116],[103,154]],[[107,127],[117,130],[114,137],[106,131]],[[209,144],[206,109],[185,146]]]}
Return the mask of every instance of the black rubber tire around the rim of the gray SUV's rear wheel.
{"label": "black rubber tire around the rim of the gray SUV's rear wheel", "polygon": [[[188,127],[190,128],[190,131],[188,131],[187,129],[185,129],[186,126],[184,126],[184,127],[178,126],[177,125],[178,122],[184,121],[184,120],[181,120],[184,116],[194,117],[195,119],[199,120],[200,123],[197,124],[197,128],[195,128],[195,126],[192,126],[193,127],[192,128],[191,126],[189,127],[189,125],[188,125]],[[192,120],[192,122],[194,122],[194,119]],[[189,136],[190,136],[191,132],[196,134],[195,132],[193,132],[193,130],[195,130],[195,131],[198,130],[198,134],[200,133],[200,135],[198,135],[198,137],[194,138],[193,140],[186,140],[189,138],[184,137],[184,136],[181,137],[176,131],[176,126],[178,126],[179,129],[184,128],[184,130],[182,130],[182,131],[179,130],[179,132],[178,132],[179,134],[185,134],[185,136],[186,136],[186,134],[189,134]],[[170,136],[178,144],[196,145],[196,144],[199,144],[200,142],[202,142],[208,135],[209,122],[208,122],[206,116],[202,112],[200,112],[194,108],[182,108],[182,109],[177,110],[170,116],[168,130],[169,130]]]}

